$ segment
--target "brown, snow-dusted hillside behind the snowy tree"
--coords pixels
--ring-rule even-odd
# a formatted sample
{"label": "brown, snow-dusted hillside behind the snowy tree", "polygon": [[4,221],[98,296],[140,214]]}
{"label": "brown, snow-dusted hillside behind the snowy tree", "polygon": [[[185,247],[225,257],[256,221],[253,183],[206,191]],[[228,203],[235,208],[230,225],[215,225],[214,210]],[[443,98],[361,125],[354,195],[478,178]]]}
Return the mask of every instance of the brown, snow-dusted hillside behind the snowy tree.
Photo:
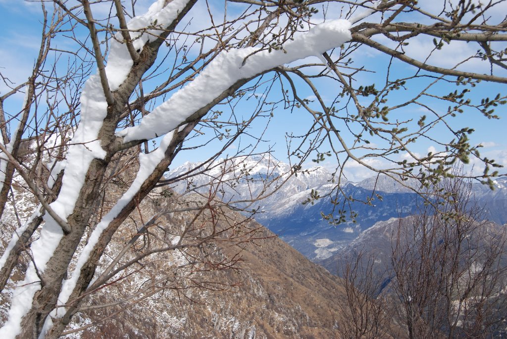
{"label": "brown, snow-dusted hillside behind the snowy tree", "polygon": [[[128,177],[128,173],[125,174]],[[22,186],[14,187],[16,205],[2,218],[3,230],[15,228],[35,207]],[[108,195],[119,194],[115,185]],[[115,234],[103,269],[137,234],[139,224],[160,212],[150,234],[135,242],[120,263],[176,244],[182,228],[195,224],[185,239],[200,239],[215,227],[215,241],[186,249],[154,252],[94,292],[67,326],[71,338],[336,338],[339,337],[343,287],[339,278],[310,262],[253,220],[227,208],[203,211],[201,197],[185,199],[158,190],[144,200]],[[15,208],[14,208],[15,207]],[[211,215],[211,214],[212,215]],[[209,220],[214,218],[216,223]],[[144,221],[143,221],[144,220]],[[190,234],[192,233],[192,234]],[[7,232],[7,234],[9,234]],[[7,236],[2,236],[5,247]],[[35,235],[37,236],[37,235]],[[21,260],[20,265],[25,261]],[[20,277],[21,279],[21,277]],[[15,281],[9,286],[14,287]],[[5,321],[9,293],[0,300]]]}

